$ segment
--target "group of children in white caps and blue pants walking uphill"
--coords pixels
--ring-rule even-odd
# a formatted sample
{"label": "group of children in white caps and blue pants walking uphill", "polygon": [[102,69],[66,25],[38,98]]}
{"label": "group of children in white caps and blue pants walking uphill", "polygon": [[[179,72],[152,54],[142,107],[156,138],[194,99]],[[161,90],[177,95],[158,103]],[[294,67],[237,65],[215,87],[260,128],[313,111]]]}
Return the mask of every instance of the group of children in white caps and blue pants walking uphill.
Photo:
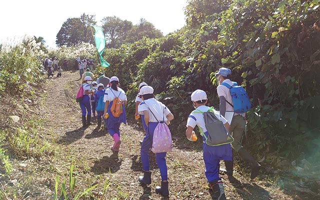
{"label": "group of children in white caps and blue pants walking uphill", "polygon": [[[94,94],[94,102],[97,103],[96,107],[99,106],[99,111],[97,111],[97,128],[101,126],[101,120],[105,121],[108,133],[113,138],[113,145],[111,145],[111,150],[118,151],[120,147],[120,123],[126,123],[126,113],[124,106],[127,104],[127,97],[125,92],[119,87],[119,79],[116,76],[112,76],[109,79],[107,85],[99,83],[95,85],[92,84],[92,78],[90,76],[85,76],[83,78],[83,98],[79,102],[82,110],[82,124],[87,126],[90,124],[91,108],[90,108],[90,98],[89,95]],[[90,86],[90,85],[93,86]],[[92,89],[93,88],[93,89]],[[95,90],[96,91],[95,91]],[[103,100],[102,100],[103,99]],[[101,108],[101,102],[104,106]],[[156,140],[158,138],[154,137],[154,134],[160,130],[159,126],[166,125],[174,118],[173,114],[169,108],[155,99],[153,88],[147,85],[145,82],[139,84],[138,94],[135,99],[135,118],[141,118],[144,138],[141,142],[140,156],[143,168],[143,175],[138,177],[138,181],[142,184],[151,183],[151,171],[149,168],[149,150],[155,147]],[[207,95],[205,91],[197,89],[191,94],[191,103],[195,110],[193,110],[186,121],[186,131],[185,135],[190,141],[196,140],[196,135],[194,134],[193,128],[197,125],[201,130],[201,135],[203,136],[202,150],[203,150],[203,160],[205,164],[205,176],[209,183],[209,187],[213,191],[213,195],[218,200],[226,199],[223,189],[222,180],[219,177],[219,162],[220,160],[226,160],[232,162],[232,152],[231,152],[231,142],[226,142],[218,145],[210,145],[207,143],[207,138],[209,137],[209,131],[206,129],[206,119],[203,117],[203,112],[210,110],[210,107],[206,106]],[[224,125],[225,131],[230,131],[229,122],[214,109],[211,109],[213,116]],[[85,114],[87,114],[85,118]],[[222,126],[223,126],[222,125]],[[162,127],[161,126],[161,127]],[[168,130],[169,131],[169,130]],[[166,132],[167,133],[167,132]],[[194,139],[195,136],[195,139]],[[232,136],[231,136],[232,137]],[[171,140],[171,137],[168,138]],[[233,140],[232,140],[233,141]],[[158,142],[157,145],[166,145],[164,142]],[[233,146],[232,146],[233,147]],[[156,163],[160,170],[161,184],[155,188],[157,193],[163,196],[169,195],[168,190],[168,177],[167,177],[167,165],[166,165],[166,152],[153,151],[155,152]],[[232,168],[229,169],[231,173],[228,175],[232,176]],[[255,175],[256,176],[256,175]],[[254,176],[254,177],[255,177]],[[253,177],[253,178],[254,178]]]}

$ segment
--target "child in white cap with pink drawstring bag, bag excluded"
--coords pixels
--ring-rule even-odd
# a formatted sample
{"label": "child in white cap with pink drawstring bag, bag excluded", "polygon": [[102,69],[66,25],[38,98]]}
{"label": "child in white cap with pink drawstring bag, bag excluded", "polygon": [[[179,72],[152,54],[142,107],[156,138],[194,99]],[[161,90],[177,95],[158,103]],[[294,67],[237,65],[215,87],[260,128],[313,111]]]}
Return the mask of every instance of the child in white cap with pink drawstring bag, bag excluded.
{"label": "child in white cap with pink drawstring bag, bag excluded", "polygon": [[[138,106],[138,113],[143,115],[146,123],[146,135],[141,144],[141,162],[143,167],[143,176],[138,177],[138,181],[143,184],[151,184],[151,171],[149,168],[149,150],[153,149],[153,134],[159,123],[168,123],[173,119],[170,110],[161,102],[157,101],[153,95],[153,88],[151,86],[143,86],[140,89],[142,100]],[[166,126],[167,127],[167,126]],[[171,138],[170,138],[171,139]],[[172,140],[171,140],[172,142]],[[161,143],[159,143],[161,145]],[[153,151],[153,150],[152,150]],[[161,186],[156,186],[155,192],[168,196],[168,181],[167,181],[167,166],[165,162],[166,152],[155,153],[156,163],[161,174]]]}

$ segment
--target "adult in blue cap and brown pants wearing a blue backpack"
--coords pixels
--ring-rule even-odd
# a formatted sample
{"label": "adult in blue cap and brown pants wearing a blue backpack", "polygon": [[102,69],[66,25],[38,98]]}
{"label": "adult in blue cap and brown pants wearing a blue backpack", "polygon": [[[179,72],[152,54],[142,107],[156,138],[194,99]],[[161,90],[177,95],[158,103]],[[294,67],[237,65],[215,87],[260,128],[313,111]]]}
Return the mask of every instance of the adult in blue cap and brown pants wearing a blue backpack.
{"label": "adult in blue cap and brown pants wearing a blue backpack", "polygon": [[[232,98],[230,94],[230,90],[228,87],[223,85],[224,83],[232,86],[234,83],[230,80],[231,70],[225,67],[219,68],[218,72],[215,73],[217,76],[217,80],[219,85],[217,86],[217,94],[219,96],[220,105],[219,110],[222,116],[225,116],[226,111],[234,112],[232,105]],[[222,84],[223,83],[223,84]],[[249,163],[251,167],[251,175],[250,178],[255,178],[259,173],[259,164],[256,160],[247,152],[241,145],[242,135],[244,133],[246,125],[245,120],[245,112],[244,113],[236,113],[232,117],[232,121],[230,124],[230,133],[234,138],[234,141],[231,143],[231,147],[239,153],[240,157]],[[232,176],[233,171],[233,161],[224,161],[226,172],[229,176]]]}

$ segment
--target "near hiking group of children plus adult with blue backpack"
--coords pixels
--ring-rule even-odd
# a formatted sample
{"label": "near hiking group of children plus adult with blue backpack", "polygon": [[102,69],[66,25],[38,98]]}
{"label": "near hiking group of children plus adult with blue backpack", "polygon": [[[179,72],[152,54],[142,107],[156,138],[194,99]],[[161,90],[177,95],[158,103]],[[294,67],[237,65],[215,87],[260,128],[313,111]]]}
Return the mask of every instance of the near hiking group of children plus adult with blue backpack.
{"label": "near hiking group of children plus adult with blue backpack", "polygon": [[[196,89],[192,92],[191,103],[194,110],[187,118],[185,131],[187,139],[195,141],[197,136],[193,128],[197,125],[200,130],[203,141],[204,173],[213,196],[218,200],[226,199],[222,180],[219,177],[219,162],[224,160],[226,174],[232,178],[231,148],[249,164],[251,179],[258,175],[260,166],[241,145],[246,125],[245,112],[251,105],[243,87],[231,81],[230,74],[231,70],[225,67],[219,68],[215,73],[219,82],[217,86],[219,111],[206,106],[205,91]],[[96,81],[92,81],[93,74],[89,68],[85,72],[80,71],[80,77],[82,85],[76,95],[76,101],[79,102],[82,111],[82,126],[87,127],[91,124],[91,114],[92,120],[95,118],[97,120],[96,129],[101,128],[103,119],[104,130],[113,138],[113,145],[110,148],[116,152],[121,144],[120,123],[126,123],[125,105],[127,104],[126,94],[119,87],[119,79],[116,76],[108,78],[103,73],[99,73]],[[153,88],[145,82],[139,84],[134,116],[135,119],[141,118],[144,131],[140,147],[143,175],[138,177],[138,181],[142,184],[151,183],[148,157],[148,152],[151,150],[155,153],[161,175],[161,184],[156,186],[155,192],[168,196],[165,156],[173,146],[168,125],[174,116],[166,105],[155,99]]]}

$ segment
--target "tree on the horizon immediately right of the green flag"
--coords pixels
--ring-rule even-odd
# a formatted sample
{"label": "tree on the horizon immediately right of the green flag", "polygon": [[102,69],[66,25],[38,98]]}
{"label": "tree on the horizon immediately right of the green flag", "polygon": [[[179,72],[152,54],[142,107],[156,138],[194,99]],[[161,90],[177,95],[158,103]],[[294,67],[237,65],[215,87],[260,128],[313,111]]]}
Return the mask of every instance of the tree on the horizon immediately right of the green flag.
{"label": "tree on the horizon immediately right of the green flag", "polygon": [[117,16],[106,16],[101,22],[108,47],[119,47],[132,28],[131,21],[122,20]]}

